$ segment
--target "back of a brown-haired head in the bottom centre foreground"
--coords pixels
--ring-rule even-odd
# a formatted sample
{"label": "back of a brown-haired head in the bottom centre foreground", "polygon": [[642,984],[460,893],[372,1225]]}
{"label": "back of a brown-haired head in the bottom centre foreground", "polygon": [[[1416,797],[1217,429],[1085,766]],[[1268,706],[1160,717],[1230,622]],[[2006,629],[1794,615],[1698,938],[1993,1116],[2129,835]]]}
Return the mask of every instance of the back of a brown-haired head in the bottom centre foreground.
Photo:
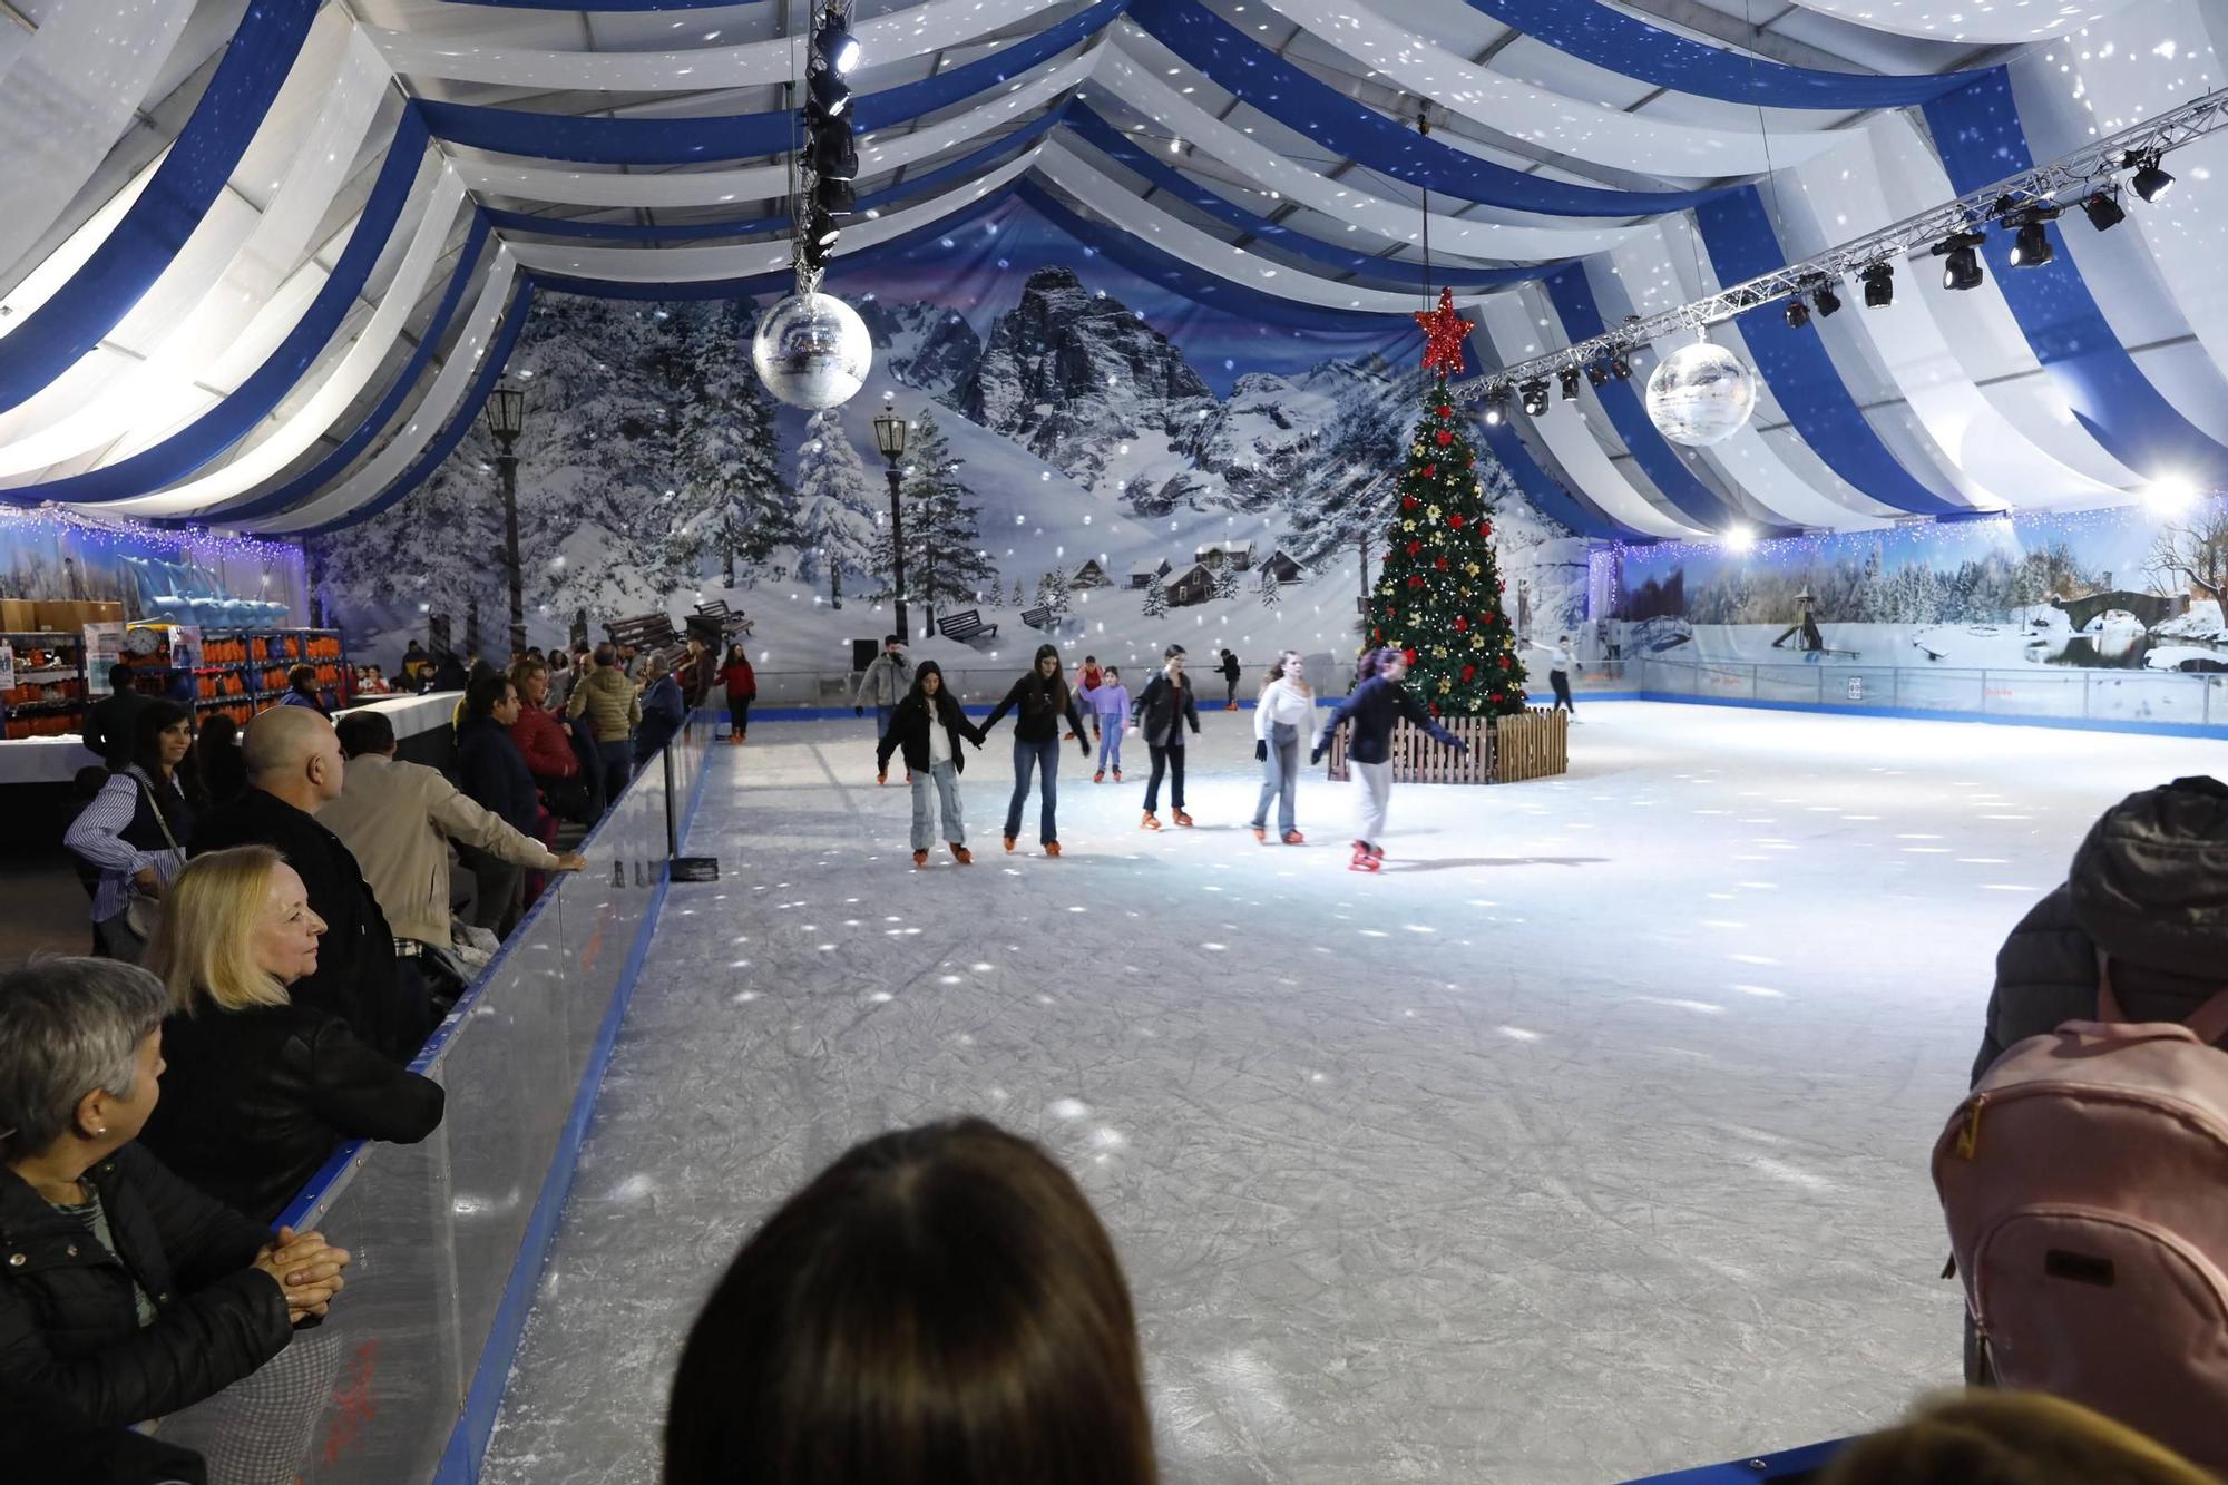
{"label": "back of a brown-haired head in the bottom centre foreground", "polygon": [[666,1414],[666,1485],[1154,1478],[1114,1244],[980,1119],[869,1139],[789,1197],[704,1302]]}

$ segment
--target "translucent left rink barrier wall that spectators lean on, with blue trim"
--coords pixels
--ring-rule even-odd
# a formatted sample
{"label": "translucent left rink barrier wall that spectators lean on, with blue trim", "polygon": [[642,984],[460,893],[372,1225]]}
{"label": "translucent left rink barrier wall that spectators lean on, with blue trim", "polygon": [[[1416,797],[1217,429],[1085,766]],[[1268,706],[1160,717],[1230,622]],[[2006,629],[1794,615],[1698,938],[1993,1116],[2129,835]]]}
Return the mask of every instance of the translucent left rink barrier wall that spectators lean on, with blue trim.
{"label": "translucent left rink barrier wall that spectators lean on, with blue trim", "polygon": [[479,1476],[595,1095],[704,787],[691,720],[613,800],[412,1064],[448,1093],[421,1144],[352,1144],[278,1217],[354,1253],[341,1376],[303,1481]]}

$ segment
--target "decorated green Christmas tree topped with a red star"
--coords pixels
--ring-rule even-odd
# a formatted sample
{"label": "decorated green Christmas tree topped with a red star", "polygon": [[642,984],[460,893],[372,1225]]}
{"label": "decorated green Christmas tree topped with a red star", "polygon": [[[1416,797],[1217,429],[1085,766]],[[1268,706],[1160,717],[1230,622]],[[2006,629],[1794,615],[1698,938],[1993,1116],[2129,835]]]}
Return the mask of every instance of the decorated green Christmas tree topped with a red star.
{"label": "decorated green Christmas tree topped with a red star", "polygon": [[1370,644],[1406,651],[1408,689],[1435,716],[1515,716],[1524,711],[1524,662],[1517,660],[1515,624],[1502,609],[1493,508],[1464,419],[1446,392],[1448,372],[1462,370],[1462,337],[1470,326],[1455,314],[1455,297],[1446,290],[1439,308],[1417,314],[1417,323],[1428,337],[1424,370],[1437,377],[1424,395],[1424,417],[1399,475],[1386,557],[1370,595]]}

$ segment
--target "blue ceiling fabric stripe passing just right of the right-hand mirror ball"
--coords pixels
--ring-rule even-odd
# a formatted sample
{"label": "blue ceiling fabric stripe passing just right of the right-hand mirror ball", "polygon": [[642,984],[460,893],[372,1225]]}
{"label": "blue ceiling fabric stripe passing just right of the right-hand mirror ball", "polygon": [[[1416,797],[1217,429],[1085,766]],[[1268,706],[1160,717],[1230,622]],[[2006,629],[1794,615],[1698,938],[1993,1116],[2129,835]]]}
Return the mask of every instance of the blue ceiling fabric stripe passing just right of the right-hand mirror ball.
{"label": "blue ceiling fabric stripe passing just right of the right-hand mirror ball", "polygon": [[[1753,185],[1696,210],[1696,221],[1718,283],[1747,283],[1787,265]],[[1780,303],[1747,310],[1736,323],[1787,421],[1836,475],[1896,511],[1945,515],[1970,508],[1936,495],[1880,441],[1814,326],[1789,328]]]}

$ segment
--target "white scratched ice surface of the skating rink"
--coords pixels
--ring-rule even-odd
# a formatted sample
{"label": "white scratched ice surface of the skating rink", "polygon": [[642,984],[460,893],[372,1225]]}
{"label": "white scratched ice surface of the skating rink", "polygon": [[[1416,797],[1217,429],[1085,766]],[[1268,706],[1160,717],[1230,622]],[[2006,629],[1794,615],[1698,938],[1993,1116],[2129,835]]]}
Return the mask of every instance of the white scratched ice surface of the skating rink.
{"label": "white scratched ice surface of the skating rink", "polygon": [[[867,1135],[980,1113],[1130,1271],[1172,1483],[1562,1485],[1809,1443],[1958,1376],[1927,1153],[2005,930],[2219,742],[1593,702],[1569,778],[1348,785],[1257,845],[1252,716],[1196,829],[1061,758],[1065,856],[916,872],[867,722],[720,745],[486,1478],[657,1478],[697,1300]],[[1163,807],[1163,818],[1165,807]],[[1274,841],[1274,836],[1272,836]]]}

